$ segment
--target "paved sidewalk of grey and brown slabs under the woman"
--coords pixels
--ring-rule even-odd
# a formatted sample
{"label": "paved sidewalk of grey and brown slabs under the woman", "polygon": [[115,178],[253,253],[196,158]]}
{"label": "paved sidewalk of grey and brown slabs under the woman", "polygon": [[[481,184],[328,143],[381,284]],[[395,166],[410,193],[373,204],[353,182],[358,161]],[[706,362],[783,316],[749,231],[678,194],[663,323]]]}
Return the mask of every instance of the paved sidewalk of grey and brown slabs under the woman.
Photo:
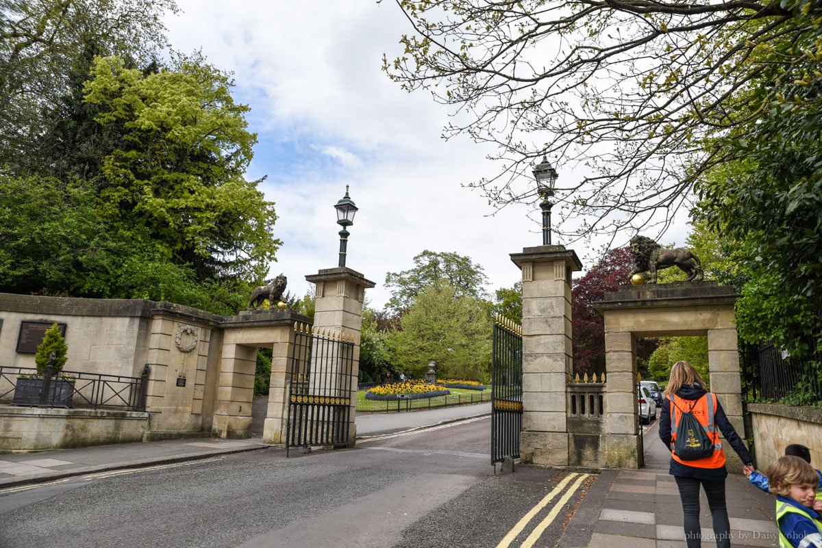
{"label": "paved sidewalk of grey and brown slabs under the woman", "polygon": [[[668,474],[670,453],[658,437],[658,422],[645,434],[645,467],[600,473],[561,537],[560,548],[630,546],[686,548],[677,484]],[[731,546],[778,546],[774,496],[729,474],[725,483]],[[713,541],[708,501],[700,497],[702,546]]]}

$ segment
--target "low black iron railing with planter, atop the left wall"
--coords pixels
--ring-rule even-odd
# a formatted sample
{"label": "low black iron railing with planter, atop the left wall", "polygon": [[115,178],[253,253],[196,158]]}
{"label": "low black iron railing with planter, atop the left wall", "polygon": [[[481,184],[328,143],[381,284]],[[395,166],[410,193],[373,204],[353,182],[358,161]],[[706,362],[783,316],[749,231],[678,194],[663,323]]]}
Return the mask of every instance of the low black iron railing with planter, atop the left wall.
{"label": "low black iron railing with planter, atop the left wall", "polygon": [[0,367],[0,404],[145,411],[147,364],[140,377],[50,369]]}

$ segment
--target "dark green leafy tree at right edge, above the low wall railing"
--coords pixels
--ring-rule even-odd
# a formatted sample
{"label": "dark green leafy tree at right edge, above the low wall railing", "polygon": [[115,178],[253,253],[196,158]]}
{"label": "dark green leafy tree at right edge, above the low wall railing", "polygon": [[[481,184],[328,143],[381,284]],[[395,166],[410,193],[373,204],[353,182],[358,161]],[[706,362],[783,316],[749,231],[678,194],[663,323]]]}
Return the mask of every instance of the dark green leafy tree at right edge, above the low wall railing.
{"label": "dark green leafy tree at right edge, above the low wall railing", "polygon": [[818,101],[807,98],[787,109],[776,105],[746,136],[746,142],[761,145],[746,144],[746,170],[707,177],[698,211],[734,246],[738,264],[730,270],[742,295],[737,303],[741,338],[773,340],[799,358],[822,349],[819,95]]}

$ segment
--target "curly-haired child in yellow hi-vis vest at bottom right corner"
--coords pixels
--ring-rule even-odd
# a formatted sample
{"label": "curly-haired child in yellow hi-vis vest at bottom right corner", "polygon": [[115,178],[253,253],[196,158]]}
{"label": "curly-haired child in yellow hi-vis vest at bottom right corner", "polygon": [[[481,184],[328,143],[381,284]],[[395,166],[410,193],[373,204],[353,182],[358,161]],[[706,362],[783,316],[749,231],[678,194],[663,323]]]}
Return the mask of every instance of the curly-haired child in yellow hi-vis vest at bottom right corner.
{"label": "curly-haired child in yellow hi-vis vest at bottom right corner", "polygon": [[780,548],[822,548],[822,502],[815,501],[819,476],[804,459],[787,455],[765,472],[776,497]]}

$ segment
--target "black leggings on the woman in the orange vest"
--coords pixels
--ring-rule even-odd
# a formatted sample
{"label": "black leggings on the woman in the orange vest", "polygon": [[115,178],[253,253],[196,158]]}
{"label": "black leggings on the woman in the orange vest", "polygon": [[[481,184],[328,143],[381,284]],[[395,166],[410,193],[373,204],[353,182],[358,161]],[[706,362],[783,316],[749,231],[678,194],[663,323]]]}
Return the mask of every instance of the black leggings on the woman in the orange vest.
{"label": "black leggings on the woman in the orange vest", "polygon": [[[685,539],[688,548],[701,548],[702,529],[700,527],[700,485],[708,497],[708,507],[713,516],[713,536],[718,548],[730,548],[731,523],[727,520],[725,506],[725,480],[700,480],[695,477],[675,476],[679,496],[682,499],[682,513],[685,514]],[[707,540],[708,535],[705,536]]]}

